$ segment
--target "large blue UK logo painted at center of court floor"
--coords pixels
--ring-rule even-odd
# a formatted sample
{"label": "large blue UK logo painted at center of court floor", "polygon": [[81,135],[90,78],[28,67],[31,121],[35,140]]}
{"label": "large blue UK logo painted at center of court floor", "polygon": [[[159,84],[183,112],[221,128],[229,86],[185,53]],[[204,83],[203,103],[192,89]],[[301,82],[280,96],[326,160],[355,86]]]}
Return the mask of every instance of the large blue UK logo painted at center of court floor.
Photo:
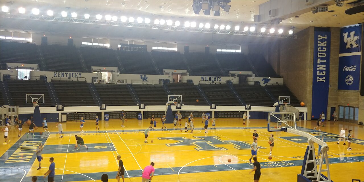
{"label": "large blue UK logo painted at center of court floor", "polygon": [[[173,140],[177,141],[172,144],[166,144],[169,147],[173,146],[196,146],[196,150],[198,151],[209,151],[209,150],[228,150],[224,147],[217,147],[216,145],[232,145],[235,149],[238,150],[247,150],[251,149],[251,144],[243,141],[233,141],[233,140],[221,140],[217,136],[209,136],[209,137],[193,137],[193,138],[185,138],[185,137],[163,137],[158,138],[160,140]],[[252,141],[253,143],[253,141]],[[258,146],[258,149],[265,149],[264,147]]]}

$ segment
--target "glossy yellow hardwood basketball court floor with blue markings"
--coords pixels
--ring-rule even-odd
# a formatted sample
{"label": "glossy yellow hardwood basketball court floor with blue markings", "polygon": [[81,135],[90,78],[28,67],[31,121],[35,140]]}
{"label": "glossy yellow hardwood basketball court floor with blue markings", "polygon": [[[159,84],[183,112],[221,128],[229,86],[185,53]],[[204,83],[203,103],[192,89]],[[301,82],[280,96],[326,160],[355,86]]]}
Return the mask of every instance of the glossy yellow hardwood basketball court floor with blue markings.
{"label": "glossy yellow hardwood basketball court floor with blue markings", "polygon": [[[150,162],[154,162],[156,168],[153,182],[253,181],[253,173],[249,174],[253,169],[249,158],[254,130],[259,134],[257,157],[262,168],[260,181],[297,181],[297,174],[301,173],[305,160],[307,137],[283,131],[269,132],[265,120],[251,119],[244,126],[238,119],[217,119],[216,123],[216,130],[209,130],[207,134],[203,133],[202,123],[198,122],[192,134],[174,129],[151,131],[149,143],[143,143],[143,132],[149,126],[149,120],[130,119],[124,130],[120,128],[119,120],[102,121],[100,131],[94,130],[93,121],[86,121],[86,132],[83,134],[78,134],[79,123],[67,122],[63,124],[64,138],[59,138],[54,123],[48,123],[50,135],[40,135],[39,131],[42,130],[39,128],[35,137],[23,132],[19,139],[16,128],[11,128],[11,143],[0,149],[0,181],[28,182],[32,176],[37,176],[38,181],[46,181],[42,175],[48,170],[49,158],[54,157],[55,181],[100,181],[102,174],[108,174],[109,181],[115,182],[117,155],[121,155],[125,166],[126,182],[139,182],[142,169]],[[363,179],[364,138],[363,132],[359,132],[361,128],[351,123],[348,126],[348,123],[337,122],[335,125],[327,123],[318,132],[311,129],[314,124],[302,122],[298,128],[326,142],[331,180],[345,182],[352,178]],[[343,142],[336,144],[337,132],[343,124],[355,131],[358,137],[352,141],[351,151]],[[166,126],[171,128],[172,124]],[[88,150],[82,146],[74,149],[75,134],[84,139]],[[270,134],[274,134],[275,138],[272,160],[268,159]],[[151,143],[151,140],[154,142]],[[34,150],[40,143],[45,145],[44,159],[42,168],[37,170]],[[318,146],[313,145],[317,153]],[[228,162],[228,159],[232,161]],[[323,174],[327,176],[325,172]]]}

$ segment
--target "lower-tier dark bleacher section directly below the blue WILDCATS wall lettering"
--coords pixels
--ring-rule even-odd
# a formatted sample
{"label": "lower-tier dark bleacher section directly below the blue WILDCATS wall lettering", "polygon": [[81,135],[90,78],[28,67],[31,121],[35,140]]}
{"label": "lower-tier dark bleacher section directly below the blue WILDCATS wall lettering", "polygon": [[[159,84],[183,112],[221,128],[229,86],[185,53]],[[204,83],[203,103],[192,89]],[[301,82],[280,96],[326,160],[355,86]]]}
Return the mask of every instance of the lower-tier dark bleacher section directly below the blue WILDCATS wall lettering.
{"label": "lower-tier dark bleacher section directly below the blue WILDCATS wall lettering", "polygon": [[211,103],[221,106],[241,106],[226,84],[199,84]]}

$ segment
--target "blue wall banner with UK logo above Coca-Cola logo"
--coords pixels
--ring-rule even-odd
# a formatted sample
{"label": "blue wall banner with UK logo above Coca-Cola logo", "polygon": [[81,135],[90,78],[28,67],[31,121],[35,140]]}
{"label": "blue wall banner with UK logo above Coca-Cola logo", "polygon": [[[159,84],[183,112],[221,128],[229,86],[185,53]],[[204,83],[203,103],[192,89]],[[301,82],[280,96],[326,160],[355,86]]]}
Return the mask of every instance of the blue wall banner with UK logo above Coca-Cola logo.
{"label": "blue wall banner with UK logo above Coca-Cola logo", "polygon": [[361,25],[341,28],[338,90],[359,90]]}

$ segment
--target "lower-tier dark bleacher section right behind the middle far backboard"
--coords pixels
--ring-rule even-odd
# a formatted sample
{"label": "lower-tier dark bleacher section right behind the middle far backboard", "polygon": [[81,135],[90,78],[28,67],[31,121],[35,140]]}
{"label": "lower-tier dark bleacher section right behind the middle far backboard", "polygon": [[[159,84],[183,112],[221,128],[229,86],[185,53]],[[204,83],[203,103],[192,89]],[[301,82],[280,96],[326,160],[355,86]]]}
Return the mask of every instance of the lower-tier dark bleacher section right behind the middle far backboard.
{"label": "lower-tier dark bleacher section right behind the middle far backboard", "polygon": [[185,105],[208,105],[193,83],[169,83],[168,88],[172,95],[182,95],[182,103]]}

